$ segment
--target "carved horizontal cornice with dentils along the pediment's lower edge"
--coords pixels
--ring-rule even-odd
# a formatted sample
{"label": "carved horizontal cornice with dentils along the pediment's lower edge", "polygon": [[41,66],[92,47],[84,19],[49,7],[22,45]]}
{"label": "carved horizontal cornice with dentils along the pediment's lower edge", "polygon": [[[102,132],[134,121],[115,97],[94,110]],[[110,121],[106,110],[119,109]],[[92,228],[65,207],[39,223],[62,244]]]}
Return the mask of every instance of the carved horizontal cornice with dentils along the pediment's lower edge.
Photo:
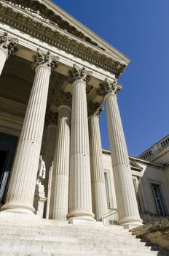
{"label": "carved horizontal cornice with dentils along the pediment's lower edge", "polygon": [[30,11],[22,10],[20,7],[7,4],[6,1],[1,1],[0,13],[1,22],[95,64],[113,73],[116,78],[119,78],[126,67],[126,64],[120,63],[115,58],[110,58],[109,54],[103,52],[103,50],[69,34],[68,31],[58,28],[50,20],[39,17],[39,15],[30,15]]}

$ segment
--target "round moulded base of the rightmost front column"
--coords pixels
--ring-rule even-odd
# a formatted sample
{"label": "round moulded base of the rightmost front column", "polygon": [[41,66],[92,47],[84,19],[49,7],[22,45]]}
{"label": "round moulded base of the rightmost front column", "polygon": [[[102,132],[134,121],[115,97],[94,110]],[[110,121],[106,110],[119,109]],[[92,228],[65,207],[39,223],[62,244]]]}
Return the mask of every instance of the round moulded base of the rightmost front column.
{"label": "round moulded base of the rightmost front column", "polygon": [[125,218],[119,219],[117,224],[130,230],[131,228],[143,225],[142,222],[143,222],[142,219],[139,217],[125,217]]}

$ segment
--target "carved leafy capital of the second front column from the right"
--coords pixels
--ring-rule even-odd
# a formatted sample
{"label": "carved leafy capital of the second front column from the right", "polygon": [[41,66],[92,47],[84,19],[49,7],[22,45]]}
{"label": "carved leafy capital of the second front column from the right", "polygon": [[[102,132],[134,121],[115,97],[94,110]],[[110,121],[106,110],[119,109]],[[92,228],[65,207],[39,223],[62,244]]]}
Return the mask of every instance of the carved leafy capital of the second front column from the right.
{"label": "carved leafy capital of the second front column from the right", "polygon": [[84,82],[89,82],[92,72],[86,70],[84,67],[78,67],[74,64],[72,70],[68,71],[68,82],[74,83],[76,80],[83,80]]}

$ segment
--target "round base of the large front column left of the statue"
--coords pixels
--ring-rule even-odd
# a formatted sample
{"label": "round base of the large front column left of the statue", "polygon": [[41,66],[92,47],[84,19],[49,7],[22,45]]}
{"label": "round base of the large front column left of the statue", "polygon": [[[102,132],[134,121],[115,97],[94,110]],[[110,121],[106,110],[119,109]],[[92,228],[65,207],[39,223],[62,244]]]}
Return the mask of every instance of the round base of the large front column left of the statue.
{"label": "round base of the large front column left of the statue", "polygon": [[25,206],[25,205],[14,205],[14,204],[8,204],[5,203],[4,206],[1,208],[1,213],[7,212],[7,213],[13,213],[13,214],[27,214],[35,216],[34,214],[34,207],[33,206]]}

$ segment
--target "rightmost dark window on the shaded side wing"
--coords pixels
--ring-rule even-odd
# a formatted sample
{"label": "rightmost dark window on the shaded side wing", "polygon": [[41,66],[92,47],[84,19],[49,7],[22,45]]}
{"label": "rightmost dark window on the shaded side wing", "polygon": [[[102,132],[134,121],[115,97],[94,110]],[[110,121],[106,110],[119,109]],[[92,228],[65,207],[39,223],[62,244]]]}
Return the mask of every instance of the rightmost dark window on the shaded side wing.
{"label": "rightmost dark window on the shaded side wing", "polygon": [[166,216],[165,203],[162,197],[162,191],[159,184],[152,184],[152,192],[154,195],[155,204],[158,214],[160,216]]}

